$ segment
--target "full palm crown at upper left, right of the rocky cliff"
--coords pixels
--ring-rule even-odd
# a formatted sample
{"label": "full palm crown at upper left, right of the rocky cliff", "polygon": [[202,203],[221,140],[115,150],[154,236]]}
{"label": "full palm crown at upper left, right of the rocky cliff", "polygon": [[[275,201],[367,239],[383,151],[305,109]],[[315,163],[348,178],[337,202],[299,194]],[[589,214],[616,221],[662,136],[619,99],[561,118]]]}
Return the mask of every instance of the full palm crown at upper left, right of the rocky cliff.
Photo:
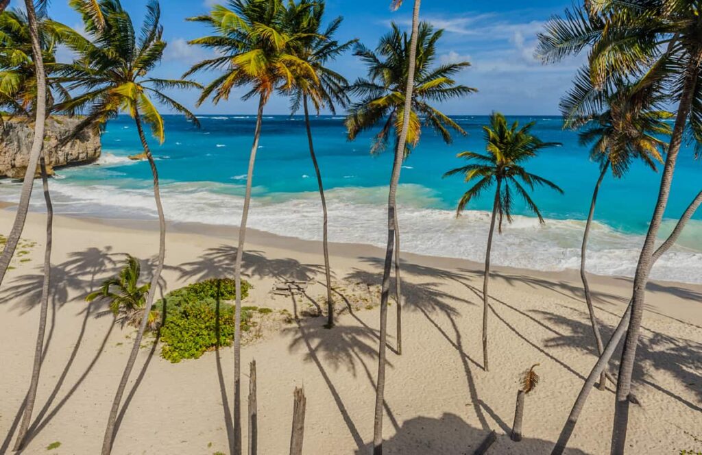
{"label": "full palm crown at upper left, right of the rocky cliff", "polygon": [[139,115],[161,143],[165,138],[164,120],[152,100],[171,107],[199,125],[190,110],[162,91],[165,88],[200,88],[199,84],[148,76],[166,49],[156,0],[147,4],[138,38],[131,17],[119,0],[99,0],[99,15],[91,7],[93,2],[75,1],[72,5],[83,17],[87,37],[58,22],[52,25],[62,41],[79,56],[70,64],[58,65],[58,74],[68,82],[70,90],[82,92],[63,100],[57,110],[69,114],[86,113],[79,130],[94,123],[105,124],[119,112],[128,112],[132,117]]}

